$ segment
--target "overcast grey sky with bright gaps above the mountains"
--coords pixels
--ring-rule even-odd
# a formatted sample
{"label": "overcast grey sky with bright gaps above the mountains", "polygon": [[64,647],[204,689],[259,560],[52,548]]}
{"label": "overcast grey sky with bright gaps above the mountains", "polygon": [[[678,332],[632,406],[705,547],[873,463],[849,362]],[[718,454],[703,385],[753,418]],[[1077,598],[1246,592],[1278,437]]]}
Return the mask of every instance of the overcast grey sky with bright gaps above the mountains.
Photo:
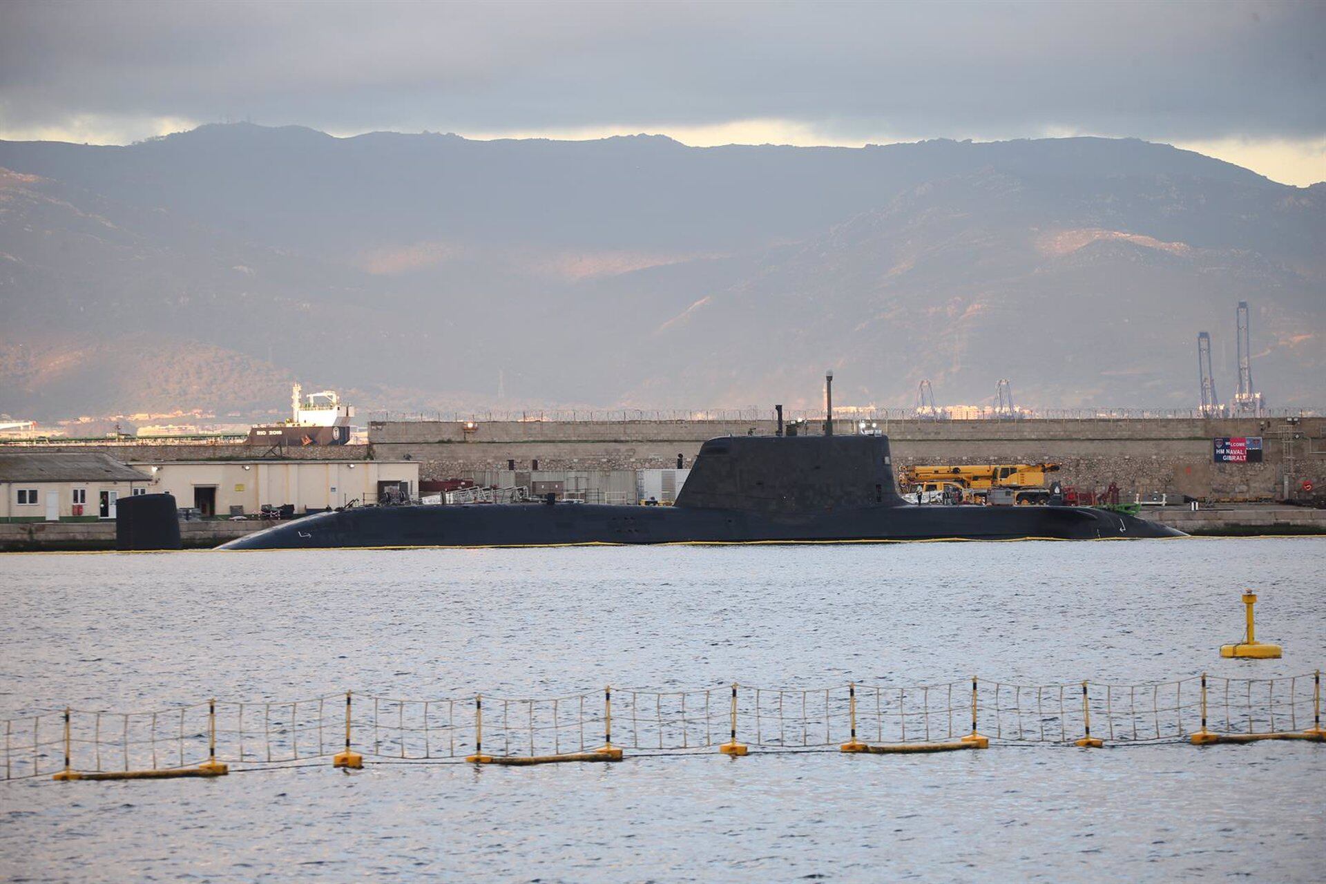
{"label": "overcast grey sky with bright gaps above the mountains", "polygon": [[0,138],[1138,137],[1326,180],[1326,1],[0,0]]}

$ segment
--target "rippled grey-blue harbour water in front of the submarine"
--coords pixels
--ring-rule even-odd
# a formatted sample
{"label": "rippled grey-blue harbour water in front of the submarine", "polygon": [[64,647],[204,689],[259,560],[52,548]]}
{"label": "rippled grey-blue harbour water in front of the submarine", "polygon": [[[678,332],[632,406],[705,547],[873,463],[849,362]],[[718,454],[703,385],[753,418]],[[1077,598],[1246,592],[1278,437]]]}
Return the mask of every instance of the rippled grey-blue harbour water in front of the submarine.
{"label": "rippled grey-blue harbour water in front of the submarine", "polygon": [[[1326,541],[0,555],[0,717],[325,692],[1269,676]],[[1221,660],[1238,594],[1285,659]],[[994,747],[0,785],[30,880],[1319,879],[1326,747]]]}

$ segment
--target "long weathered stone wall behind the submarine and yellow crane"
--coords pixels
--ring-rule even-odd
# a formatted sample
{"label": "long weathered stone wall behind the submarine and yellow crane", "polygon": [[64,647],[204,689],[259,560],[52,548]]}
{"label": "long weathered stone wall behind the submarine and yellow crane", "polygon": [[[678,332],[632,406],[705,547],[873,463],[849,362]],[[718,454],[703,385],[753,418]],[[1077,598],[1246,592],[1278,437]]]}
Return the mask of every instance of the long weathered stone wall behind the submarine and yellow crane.
{"label": "long weathered stone wall behind the submarine and yellow crane", "polygon": [[[837,432],[854,431],[837,421]],[[815,428],[818,429],[818,427]],[[1201,500],[1274,500],[1303,480],[1326,480],[1326,419],[945,420],[882,421],[904,464],[1058,463],[1065,485]],[[640,469],[690,467],[705,439],[772,433],[765,421],[459,421],[373,423],[371,457],[410,457],[423,478],[480,469]],[[1265,439],[1262,464],[1215,464],[1212,440]]]}

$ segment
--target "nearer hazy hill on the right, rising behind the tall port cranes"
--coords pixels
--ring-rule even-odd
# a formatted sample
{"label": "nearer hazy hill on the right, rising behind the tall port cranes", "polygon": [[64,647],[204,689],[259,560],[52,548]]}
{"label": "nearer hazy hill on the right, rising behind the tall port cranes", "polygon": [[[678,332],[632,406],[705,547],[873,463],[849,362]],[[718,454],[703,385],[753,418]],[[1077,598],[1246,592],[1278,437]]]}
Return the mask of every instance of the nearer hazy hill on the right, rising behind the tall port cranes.
{"label": "nearer hazy hill on the right, rising behind the tall port cranes", "polygon": [[[975,399],[1009,376],[1030,402],[1174,402],[1195,374],[1197,323],[1213,331],[1217,350],[1228,345],[1232,353],[1233,304],[1260,294],[1254,343],[1266,353],[1257,378],[1284,390],[1285,378],[1297,375],[1302,398],[1319,392],[1319,278],[1256,252],[1078,227],[1102,221],[1090,200],[1055,213],[1044,196],[996,172],[922,186],[786,253],[760,278],[712,296],[684,329],[667,334],[703,351],[747,317],[753,334],[727,338],[729,394],[739,399],[761,387],[762,372],[801,368],[823,353],[819,360],[841,366],[847,390],[865,400],[896,394],[859,378],[904,380],[912,390],[928,378],[936,390],[972,391]],[[1038,227],[1046,221],[1061,227]],[[1046,253],[1045,235],[1082,244]],[[1184,327],[1185,315],[1192,326]],[[831,353],[826,341],[837,343]],[[1102,364],[1126,367],[1127,384],[1102,382]],[[1225,364],[1217,374],[1228,395]]]}

